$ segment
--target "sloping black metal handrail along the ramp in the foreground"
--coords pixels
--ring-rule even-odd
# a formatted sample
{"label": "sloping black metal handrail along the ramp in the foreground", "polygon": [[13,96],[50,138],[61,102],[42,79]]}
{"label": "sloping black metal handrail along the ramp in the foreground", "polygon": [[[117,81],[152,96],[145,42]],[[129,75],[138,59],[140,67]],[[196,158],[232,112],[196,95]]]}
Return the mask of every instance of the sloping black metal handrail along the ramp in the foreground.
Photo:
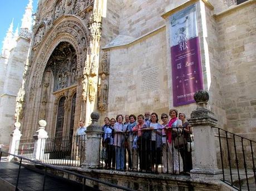
{"label": "sloping black metal handrail along the ramp in the foreground", "polygon": [[7,153],[7,152],[2,151],[1,148],[0,148],[0,163],[1,163],[2,153],[8,154],[8,155],[12,155],[13,157],[19,159],[19,169],[18,169],[17,181],[16,181],[16,185],[15,185],[16,190],[19,190],[18,189],[18,183],[19,183],[19,176],[20,176],[20,172],[21,172],[21,165],[22,165],[22,161],[25,160],[25,161],[28,161],[28,162],[31,162],[31,163],[40,164],[40,165],[42,165],[42,167],[45,168],[44,178],[43,178],[43,183],[42,183],[42,190],[45,190],[46,177],[47,177],[47,174],[48,174],[47,173],[47,169],[55,169],[55,170],[60,170],[61,172],[64,172],[64,173],[67,173],[67,174],[76,175],[76,177],[82,178],[82,184],[83,184],[82,190],[83,191],[86,190],[86,179],[92,180],[93,182],[97,182],[97,183],[100,183],[100,184],[107,185],[109,187],[114,187],[114,188],[118,188],[118,189],[121,189],[121,190],[133,191],[130,188],[122,187],[122,186],[119,186],[119,185],[116,185],[116,184],[112,184],[112,183],[107,183],[107,182],[104,182],[104,181],[96,179],[96,178],[92,178],[92,177],[88,177],[86,175],[82,175],[82,174],[78,174],[78,173],[72,172],[70,170],[58,168],[58,167],[56,167],[54,165],[44,164],[44,163],[41,163],[41,162],[37,162],[35,160],[31,160],[31,159],[28,159],[28,158],[25,158],[25,157],[21,157],[21,156],[15,155],[15,154]]}

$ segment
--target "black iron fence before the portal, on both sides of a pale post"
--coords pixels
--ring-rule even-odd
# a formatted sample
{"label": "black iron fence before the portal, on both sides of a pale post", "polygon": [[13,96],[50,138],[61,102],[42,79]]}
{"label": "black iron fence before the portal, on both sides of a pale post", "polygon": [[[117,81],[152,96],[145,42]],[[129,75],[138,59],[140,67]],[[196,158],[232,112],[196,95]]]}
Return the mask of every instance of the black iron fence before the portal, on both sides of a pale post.
{"label": "black iron fence before the portal, on both sides of a pale post", "polygon": [[[39,159],[45,164],[80,166],[85,161],[86,135],[43,138],[37,147],[40,153],[33,155],[35,139],[17,142],[16,154],[28,159]],[[26,160],[23,160],[26,162]]]}

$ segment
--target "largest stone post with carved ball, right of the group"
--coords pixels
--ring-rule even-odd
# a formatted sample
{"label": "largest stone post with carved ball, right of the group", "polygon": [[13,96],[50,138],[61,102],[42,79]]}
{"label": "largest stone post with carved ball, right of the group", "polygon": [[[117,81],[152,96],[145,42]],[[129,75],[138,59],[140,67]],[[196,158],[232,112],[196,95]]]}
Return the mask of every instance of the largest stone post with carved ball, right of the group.
{"label": "largest stone post with carved ball, right of the group", "polygon": [[188,120],[193,126],[195,144],[194,168],[190,171],[190,176],[219,179],[221,170],[217,165],[213,128],[217,120],[214,113],[206,108],[209,94],[201,90],[195,94],[194,99],[198,107],[191,113],[191,118]]}

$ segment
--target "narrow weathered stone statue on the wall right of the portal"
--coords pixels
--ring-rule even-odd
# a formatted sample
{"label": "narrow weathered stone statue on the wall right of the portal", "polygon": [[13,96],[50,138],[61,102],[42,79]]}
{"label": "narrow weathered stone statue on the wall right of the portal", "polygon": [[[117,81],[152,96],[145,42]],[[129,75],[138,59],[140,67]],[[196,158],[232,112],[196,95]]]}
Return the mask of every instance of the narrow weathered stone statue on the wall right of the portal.
{"label": "narrow weathered stone statue on the wall right of the portal", "polygon": [[107,109],[107,98],[109,92],[109,82],[107,82],[105,74],[101,75],[99,79],[99,110],[106,111]]}

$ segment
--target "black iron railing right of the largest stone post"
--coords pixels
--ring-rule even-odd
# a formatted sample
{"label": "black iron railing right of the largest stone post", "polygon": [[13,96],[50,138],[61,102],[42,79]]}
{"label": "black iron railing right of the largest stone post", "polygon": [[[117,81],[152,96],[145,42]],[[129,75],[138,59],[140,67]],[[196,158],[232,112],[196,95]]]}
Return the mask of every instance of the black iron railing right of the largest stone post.
{"label": "black iron railing right of the largest stone post", "polygon": [[256,142],[215,128],[218,129],[221,180],[237,190],[256,188]]}

